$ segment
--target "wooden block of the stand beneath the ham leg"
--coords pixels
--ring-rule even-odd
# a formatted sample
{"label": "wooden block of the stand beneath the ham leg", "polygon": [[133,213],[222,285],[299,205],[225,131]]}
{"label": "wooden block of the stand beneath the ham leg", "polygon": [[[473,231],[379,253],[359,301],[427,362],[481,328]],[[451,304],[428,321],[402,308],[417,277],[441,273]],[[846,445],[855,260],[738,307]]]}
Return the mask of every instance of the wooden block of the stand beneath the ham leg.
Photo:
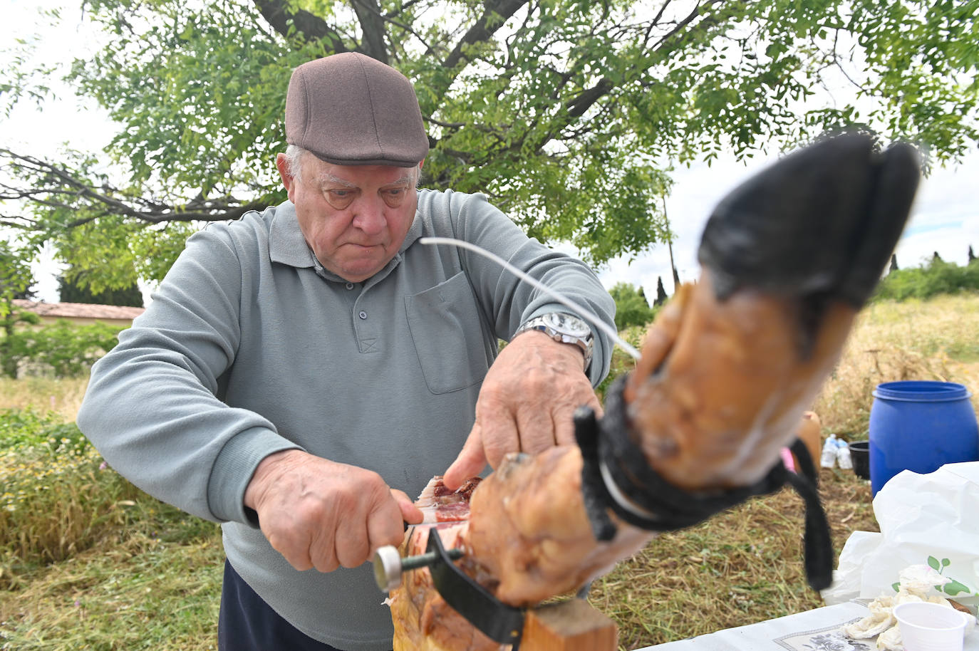
{"label": "wooden block of the stand beneath the ham leg", "polygon": [[520,651],[616,651],[619,628],[584,599],[527,611]]}

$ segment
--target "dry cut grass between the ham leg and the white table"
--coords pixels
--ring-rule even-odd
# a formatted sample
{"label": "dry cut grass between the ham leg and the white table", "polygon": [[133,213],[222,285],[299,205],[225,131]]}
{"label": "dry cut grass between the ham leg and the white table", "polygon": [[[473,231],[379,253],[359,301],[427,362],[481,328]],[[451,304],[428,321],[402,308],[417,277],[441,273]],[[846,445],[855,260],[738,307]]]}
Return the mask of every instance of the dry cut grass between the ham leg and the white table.
{"label": "dry cut grass between the ham leg and the white table", "polygon": [[[837,554],[853,531],[879,531],[866,482],[823,470],[820,492]],[[803,511],[786,488],[660,535],[596,581],[589,600],[619,625],[621,649],[817,608],[803,567]]]}

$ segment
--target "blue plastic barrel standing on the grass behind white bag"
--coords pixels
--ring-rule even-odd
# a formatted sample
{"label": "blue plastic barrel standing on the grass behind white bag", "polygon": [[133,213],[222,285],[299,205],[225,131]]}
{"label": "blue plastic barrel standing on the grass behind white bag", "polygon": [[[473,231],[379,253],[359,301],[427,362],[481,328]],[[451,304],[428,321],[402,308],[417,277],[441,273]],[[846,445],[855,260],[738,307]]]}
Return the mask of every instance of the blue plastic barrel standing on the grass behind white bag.
{"label": "blue plastic barrel standing on the grass behind white bag", "polygon": [[870,491],[902,470],[931,473],[979,461],[979,426],[969,392],[954,382],[885,382],[870,407]]}

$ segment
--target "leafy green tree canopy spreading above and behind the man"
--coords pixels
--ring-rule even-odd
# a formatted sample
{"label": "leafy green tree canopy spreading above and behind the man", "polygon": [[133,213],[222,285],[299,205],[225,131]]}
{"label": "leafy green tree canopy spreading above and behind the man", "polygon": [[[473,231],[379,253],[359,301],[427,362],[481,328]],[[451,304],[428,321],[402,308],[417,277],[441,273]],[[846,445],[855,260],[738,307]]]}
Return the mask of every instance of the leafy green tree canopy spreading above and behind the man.
{"label": "leafy green tree canopy spreading above and behind the man", "polygon": [[[159,279],[201,221],[281,201],[290,71],[357,51],[415,82],[423,185],[484,192],[589,261],[665,241],[669,165],[861,128],[934,161],[979,140],[979,0],[82,0],[68,80],[119,124],[57,161],[0,143],[0,225],[94,291]],[[18,60],[19,62],[22,60]],[[844,88],[836,97],[821,85]],[[0,108],[45,96],[26,64]],[[11,207],[14,207],[11,209]],[[84,244],[84,246],[81,246]]]}

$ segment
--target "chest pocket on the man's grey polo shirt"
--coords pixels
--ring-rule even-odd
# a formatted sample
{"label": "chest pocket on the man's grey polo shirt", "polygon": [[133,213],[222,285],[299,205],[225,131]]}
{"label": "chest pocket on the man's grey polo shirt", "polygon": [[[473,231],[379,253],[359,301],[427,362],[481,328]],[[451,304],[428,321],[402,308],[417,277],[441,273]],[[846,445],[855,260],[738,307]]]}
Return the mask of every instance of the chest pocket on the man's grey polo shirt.
{"label": "chest pocket on the man's grey polo shirt", "polygon": [[488,352],[479,308],[463,272],[405,297],[404,306],[429,391],[448,394],[483,381]]}

